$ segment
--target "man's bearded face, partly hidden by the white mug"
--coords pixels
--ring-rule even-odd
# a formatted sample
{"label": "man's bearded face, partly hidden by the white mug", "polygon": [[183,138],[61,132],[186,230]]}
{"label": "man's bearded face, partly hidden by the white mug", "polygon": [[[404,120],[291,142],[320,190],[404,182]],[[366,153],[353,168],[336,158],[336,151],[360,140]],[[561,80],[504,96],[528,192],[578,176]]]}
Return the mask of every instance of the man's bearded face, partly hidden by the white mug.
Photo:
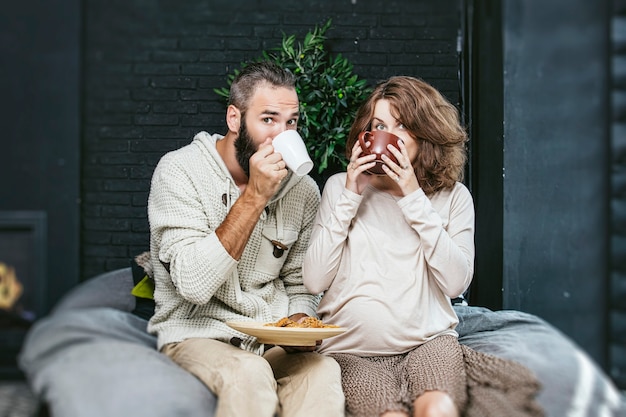
{"label": "man's bearded face, partly hidden by the white mug", "polygon": [[295,90],[260,85],[241,114],[239,133],[235,140],[237,162],[250,175],[250,157],[267,138],[273,139],[287,129],[298,127],[298,95]]}

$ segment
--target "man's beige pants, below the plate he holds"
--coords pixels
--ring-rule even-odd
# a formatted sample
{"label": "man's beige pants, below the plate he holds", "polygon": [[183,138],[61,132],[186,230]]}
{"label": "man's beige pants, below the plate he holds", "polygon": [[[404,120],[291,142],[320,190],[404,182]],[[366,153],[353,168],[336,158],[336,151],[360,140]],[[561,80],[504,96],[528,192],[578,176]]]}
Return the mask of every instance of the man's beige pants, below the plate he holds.
{"label": "man's beige pants, below the plate he holds", "polygon": [[162,352],[215,393],[215,417],[344,416],[341,371],[328,356],[274,347],[261,357],[200,338]]}

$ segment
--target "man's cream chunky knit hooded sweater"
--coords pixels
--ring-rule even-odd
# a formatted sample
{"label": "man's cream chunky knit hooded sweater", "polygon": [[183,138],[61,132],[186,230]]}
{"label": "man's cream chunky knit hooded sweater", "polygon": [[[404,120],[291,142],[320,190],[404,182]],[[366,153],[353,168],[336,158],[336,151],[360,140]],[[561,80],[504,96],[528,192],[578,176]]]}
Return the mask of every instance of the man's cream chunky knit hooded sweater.
{"label": "man's cream chunky knit hooded sweater", "polygon": [[[242,349],[260,353],[256,338],[224,322],[315,316],[319,297],[302,283],[302,261],[320,201],[317,184],[290,173],[236,261],[215,234],[240,195],[215,148],[222,138],[198,133],[163,156],[152,177],[148,218],[156,309],[148,330],[157,334],[159,349],[191,337],[237,337]],[[288,249],[275,253],[271,240]]]}

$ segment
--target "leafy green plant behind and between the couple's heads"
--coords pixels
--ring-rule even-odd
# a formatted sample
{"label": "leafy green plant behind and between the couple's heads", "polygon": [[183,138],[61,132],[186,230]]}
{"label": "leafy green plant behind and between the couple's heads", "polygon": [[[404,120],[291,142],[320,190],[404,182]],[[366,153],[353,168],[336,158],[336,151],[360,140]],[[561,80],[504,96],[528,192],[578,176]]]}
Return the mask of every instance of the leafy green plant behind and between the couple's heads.
{"label": "leafy green plant behind and between the couple's heads", "polygon": [[[300,98],[300,133],[307,144],[317,173],[346,167],[345,146],[350,125],[358,106],[372,91],[367,82],[353,73],[353,65],[337,54],[326,51],[326,31],[331,19],[315,26],[302,42],[283,33],[279,47],[263,51],[257,60],[270,60],[296,75]],[[239,69],[228,76],[232,83]],[[228,98],[228,88],[214,90]]]}

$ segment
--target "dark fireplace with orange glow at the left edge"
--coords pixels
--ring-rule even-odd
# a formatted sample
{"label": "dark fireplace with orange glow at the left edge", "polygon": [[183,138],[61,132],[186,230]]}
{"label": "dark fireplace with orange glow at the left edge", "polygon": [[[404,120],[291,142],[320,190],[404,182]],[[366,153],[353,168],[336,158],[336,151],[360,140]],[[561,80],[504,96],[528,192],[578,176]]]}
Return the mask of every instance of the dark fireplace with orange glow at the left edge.
{"label": "dark fireplace with orange glow at the left edge", "polygon": [[45,311],[46,213],[0,211],[0,380],[19,377],[26,332]]}

